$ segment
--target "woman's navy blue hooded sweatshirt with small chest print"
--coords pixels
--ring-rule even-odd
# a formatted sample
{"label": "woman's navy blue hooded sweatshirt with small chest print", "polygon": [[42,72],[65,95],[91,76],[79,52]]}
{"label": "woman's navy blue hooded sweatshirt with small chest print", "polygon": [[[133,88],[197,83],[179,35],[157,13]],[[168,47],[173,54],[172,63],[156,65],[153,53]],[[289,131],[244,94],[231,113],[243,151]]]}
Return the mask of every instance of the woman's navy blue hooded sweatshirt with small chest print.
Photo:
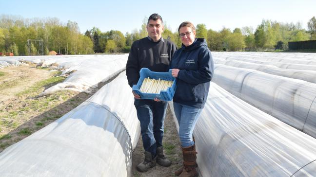
{"label": "woman's navy blue hooded sweatshirt with small chest print", "polygon": [[173,101],[203,108],[214,75],[214,62],[205,39],[196,38],[188,47],[182,44],[173,55],[170,68],[180,70]]}

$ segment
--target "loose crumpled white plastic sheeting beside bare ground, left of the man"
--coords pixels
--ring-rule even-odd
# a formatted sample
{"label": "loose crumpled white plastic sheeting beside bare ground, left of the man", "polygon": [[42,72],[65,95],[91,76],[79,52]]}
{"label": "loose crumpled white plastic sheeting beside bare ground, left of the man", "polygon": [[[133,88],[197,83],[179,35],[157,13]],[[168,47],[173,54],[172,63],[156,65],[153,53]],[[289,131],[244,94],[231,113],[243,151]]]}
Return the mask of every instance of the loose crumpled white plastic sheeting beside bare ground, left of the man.
{"label": "loose crumpled white plastic sheeting beside bare ground, left of the man", "polygon": [[[61,75],[70,73],[63,83],[44,90],[39,96],[51,94],[58,90],[75,90],[91,93],[100,82],[104,82],[126,66],[128,54],[113,55],[58,55],[58,56],[15,56],[8,61],[23,61],[40,64],[63,71]],[[19,61],[18,61],[19,60]],[[19,62],[20,63],[20,62]]]}

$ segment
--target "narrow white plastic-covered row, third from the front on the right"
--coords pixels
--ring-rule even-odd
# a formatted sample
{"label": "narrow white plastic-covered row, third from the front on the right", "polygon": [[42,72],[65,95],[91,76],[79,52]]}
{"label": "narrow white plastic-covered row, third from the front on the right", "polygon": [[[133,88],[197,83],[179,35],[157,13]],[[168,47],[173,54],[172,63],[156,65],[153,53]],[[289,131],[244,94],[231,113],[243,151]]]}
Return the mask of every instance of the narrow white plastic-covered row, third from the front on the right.
{"label": "narrow white plastic-covered row, third from the front on the right", "polygon": [[316,71],[281,69],[273,65],[262,65],[262,64],[249,63],[249,62],[238,61],[238,60],[233,60],[233,59],[224,60],[224,59],[217,58],[215,59],[215,63],[238,67],[238,68],[252,69],[252,70],[266,72],[269,74],[274,74],[274,75],[279,75],[279,76],[300,79],[307,82],[316,83]]}

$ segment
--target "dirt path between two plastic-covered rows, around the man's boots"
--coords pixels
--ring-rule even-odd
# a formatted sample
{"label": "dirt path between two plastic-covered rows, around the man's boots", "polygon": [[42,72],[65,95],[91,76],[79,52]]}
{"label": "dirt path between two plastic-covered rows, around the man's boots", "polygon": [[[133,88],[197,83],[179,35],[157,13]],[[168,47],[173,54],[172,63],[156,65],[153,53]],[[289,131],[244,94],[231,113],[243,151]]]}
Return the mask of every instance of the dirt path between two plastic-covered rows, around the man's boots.
{"label": "dirt path between two plastic-covered rows, around the man's boots", "polygon": [[176,125],[169,106],[166,113],[164,128],[164,137],[162,142],[164,146],[164,153],[166,157],[171,160],[172,165],[170,167],[162,167],[156,164],[156,167],[151,168],[148,172],[138,172],[136,166],[144,159],[144,148],[140,135],[137,147],[132,154],[132,177],[176,177],[174,175],[174,171],[176,171],[182,164],[182,151],[180,148],[180,140],[178,138]]}

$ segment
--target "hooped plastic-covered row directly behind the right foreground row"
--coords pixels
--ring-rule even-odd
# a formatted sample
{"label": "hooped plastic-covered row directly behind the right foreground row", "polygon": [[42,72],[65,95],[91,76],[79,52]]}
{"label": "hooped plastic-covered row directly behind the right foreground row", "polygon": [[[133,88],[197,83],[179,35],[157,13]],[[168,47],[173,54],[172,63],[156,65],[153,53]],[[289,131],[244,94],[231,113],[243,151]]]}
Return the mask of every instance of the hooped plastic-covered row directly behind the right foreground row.
{"label": "hooped plastic-covered row directly behind the right foreground row", "polygon": [[282,122],[316,137],[316,84],[217,65],[213,82]]}

